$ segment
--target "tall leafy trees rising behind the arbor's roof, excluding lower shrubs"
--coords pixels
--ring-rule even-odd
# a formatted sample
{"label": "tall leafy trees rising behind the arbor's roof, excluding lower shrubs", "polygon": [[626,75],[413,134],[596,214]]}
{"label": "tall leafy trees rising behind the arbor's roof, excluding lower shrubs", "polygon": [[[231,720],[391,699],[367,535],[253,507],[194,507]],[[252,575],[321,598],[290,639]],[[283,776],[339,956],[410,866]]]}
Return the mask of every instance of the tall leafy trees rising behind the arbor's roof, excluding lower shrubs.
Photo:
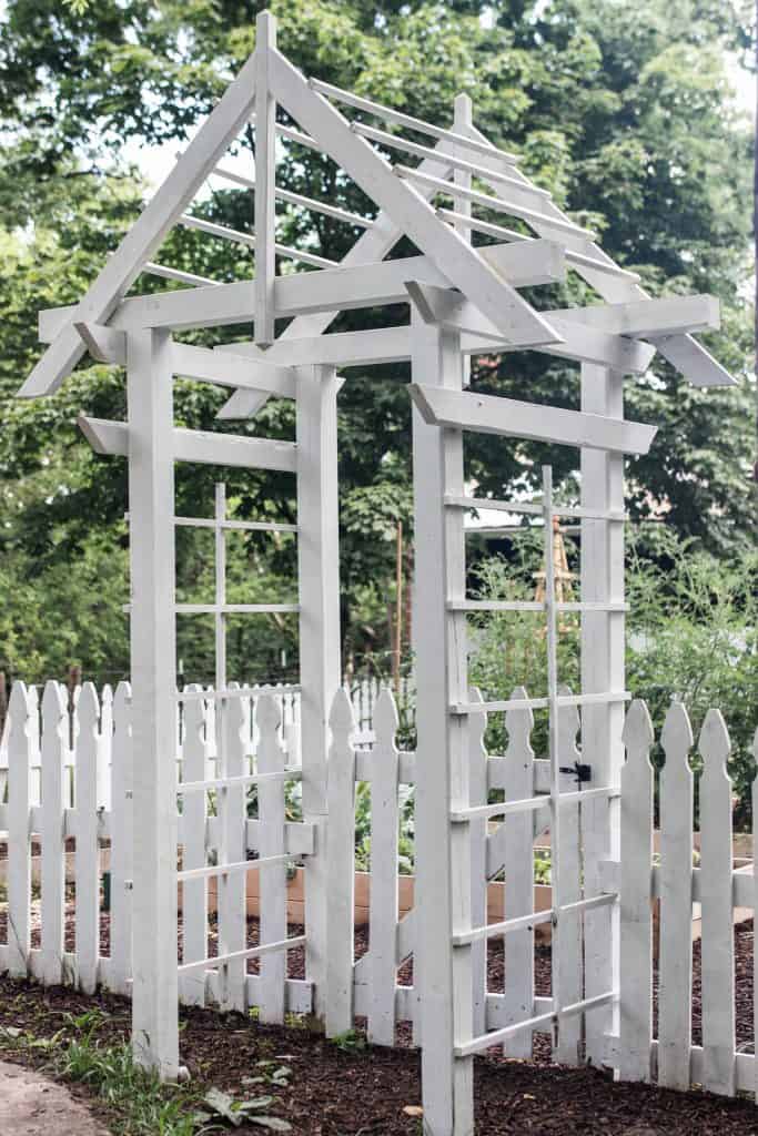
{"label": "tall leafy trees rising behind the arbor's roof, excluding lower shrubs", "polygon": [[[124,469],[94,458],[73,419],[83,408],[119,417],[124,384],[116,371],[83,366],[56,398],[14,402],[13,390],[38,350],[30,315],[81,294],[139,207],[142,187],[123,167],[124,144],[184,141],[220,94],[227,73],[253,48],[260,7],[225,0],[166,0],[159,7],[102,0],[84,10],[51,0],[8,5],[0,30],[0,109],[10,170],[0,184],[0,239],[9,250],[0,293],[0,454],[14,507],[8,513],[3,504],[13,523],[2,540],[34,562],[70,562],[92,528],[115,531],[125,507]],[[603,247],[640,272],[653,294],[665,287],[720,296],[724,328],[710,341],[740,386],[699,392],[660,361],[650,376],[630,382],[630,417],[660,425],[651,454],[631,467],[630,509],[634,516],[668,510],[683,535],[715,551],[744,544],[755,446],[751,316],[744,299],[750,218],[743,204],[752,139],[731,107],[724,61],[726,48],[747,42],[743,6],[274,0],[270,7],[282,49],[307,73],[442,123],[450,119],[455,95],[467,91],[477,125],[493,141],[518,149],[524,169],[577,219],[600,229]],[[240,145],[251,149],[253,141],[248,131]],[[102,168],[106,176],[95,173]],[[277,178],[349,209],[369,206],[349,178],[310,150],[290,150]],[[244,229],[250,194],[214,185],[195,211]],[[288,243],[307,242],[339,259],[358,231],[289,208],[281,234]],[[409,251],[408,242],[397,250]],[[160,257],[219,279],[242,278],[252,269],[248,253],[184,229],[170,235]],[[136,287],[148,291],[156,283],[142,277]],[[544,307],[586,298],[573,278],[565,289],[533,295]],[[335,327],[366,326],[367,318],[403,321],[407,311],[345,314]],[[209,343],[214,335],[249,333],[249,327],[224,328],[190,339]],[[392,542],[377,541],[377,532],[410,520],[405,378],[402,367],[353,370],[340,398],[344,620],[358,651],[376,644],[374,615],[392,576]],[[577,368],[545,357],[511,354],[497,366],[483,359],[473,378],[480,390],[577,404]],[[177,386],[177,416],[188,425],[210,427],[222,401],[207,386]],[[272,400],[258,418],[234,428],[292,437],[292,407]],[[499,496],[535,487],[544,457],[540,446],[485,436],[467,443],[469,475]],[[563,492],[573,494],[576,456],[552,451],[550,458]],[[51,492],[53,474],[59,487]],[[177,475],[177,508],[207,508],[218,471],[180,467]],[[293,515],[285,479],[224,476],[242,513]],[[267,570],[293,566],[291,550],[280,550],[272,552]],[[357,618],[358,605],[370,618]]]}

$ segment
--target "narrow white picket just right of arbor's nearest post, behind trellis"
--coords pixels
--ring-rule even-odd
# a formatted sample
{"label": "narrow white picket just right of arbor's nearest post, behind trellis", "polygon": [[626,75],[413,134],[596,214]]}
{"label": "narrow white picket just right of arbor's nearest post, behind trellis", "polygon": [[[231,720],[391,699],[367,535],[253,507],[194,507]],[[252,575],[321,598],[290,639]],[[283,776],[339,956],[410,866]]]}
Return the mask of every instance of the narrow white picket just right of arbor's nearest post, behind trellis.
{"label": "narrow white picket just right of arbor's nearest post, behind trellis", "polygon": [[[469,701],[483,702],[482,692],[472,687]],[[488,769],[484,734],[486,732],[486,712],[468,715],[468,793],[470,803],[486,804]],[[469,825],[472,858],[472,926],[486,925],[486,820],[473,820]],[[486,939],[472,944],[472,982],[473,982],[473,1029],[474,1034],[483,1034],[486,1029]]]}

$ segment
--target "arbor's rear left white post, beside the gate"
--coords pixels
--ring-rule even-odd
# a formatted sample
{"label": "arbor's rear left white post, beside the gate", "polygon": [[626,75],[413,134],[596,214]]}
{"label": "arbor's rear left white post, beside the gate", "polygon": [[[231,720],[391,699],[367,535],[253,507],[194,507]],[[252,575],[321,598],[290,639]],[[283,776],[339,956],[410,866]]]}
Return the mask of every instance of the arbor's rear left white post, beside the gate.
{"label": "arbor's rear left white post, beside the gate", "polygon": [[306,861],[306,974],[314,1012],[324,1014],[326,974],[326,762],[328,716],[340,686],[340,542],[336,392],[333,367],[299,367],[298,588],[302,811],[315,827]]}

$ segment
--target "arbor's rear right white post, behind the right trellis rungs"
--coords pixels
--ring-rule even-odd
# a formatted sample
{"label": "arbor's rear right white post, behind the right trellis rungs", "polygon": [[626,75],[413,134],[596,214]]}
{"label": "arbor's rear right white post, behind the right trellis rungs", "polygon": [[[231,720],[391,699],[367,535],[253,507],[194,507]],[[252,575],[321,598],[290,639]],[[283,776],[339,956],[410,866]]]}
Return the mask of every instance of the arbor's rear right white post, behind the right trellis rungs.
{"label": "arbor's rear right white post, behind the right trellis rungs", "polygon": [[[623,418],[624,379],[595,364],[582,364],[582,410]],[[624,459],[602,450],[582,449],[582,504],[599,510],[624,510]],[[582,521],[582,600],[619,603],[624,600],[624,526],[619,521]],[[624,615],[585,611],[582,615],[582,692],[624,690]],[[592,768],[592,785],[618,785],[624,761],[622,702],[586,705],[582,711],[582,755]],[[584,891],[601,891],[600,864],[620,854],[618,801],[583,805]],[[584,914],[584,994],[592,997],[618,989],[618,907]],[[617,1033],[614,1006],[586,1016],[586,1059],[602,1064],[605,1034]]]}

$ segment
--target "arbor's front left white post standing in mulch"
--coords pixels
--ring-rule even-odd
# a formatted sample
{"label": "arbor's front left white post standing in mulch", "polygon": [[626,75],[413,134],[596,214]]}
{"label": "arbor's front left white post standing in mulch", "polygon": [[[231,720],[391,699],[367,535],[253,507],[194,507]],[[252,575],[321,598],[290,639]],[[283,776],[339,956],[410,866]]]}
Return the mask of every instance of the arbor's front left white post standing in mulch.
{"label": "arbor's front left white post standing in mulch", "polygon": [[176,633],[170,340],[127,335],[134,753],[135,1060],[178,1072]]}

